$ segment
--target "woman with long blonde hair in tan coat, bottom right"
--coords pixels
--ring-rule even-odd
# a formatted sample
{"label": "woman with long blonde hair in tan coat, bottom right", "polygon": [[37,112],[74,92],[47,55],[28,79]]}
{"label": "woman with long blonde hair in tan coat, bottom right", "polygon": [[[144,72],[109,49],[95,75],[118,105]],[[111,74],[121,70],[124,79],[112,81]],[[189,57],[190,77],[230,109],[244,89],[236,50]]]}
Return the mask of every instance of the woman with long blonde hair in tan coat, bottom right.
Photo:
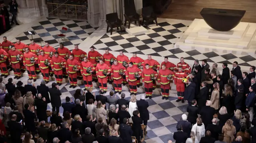
{"label": "woman with long blonde hair in tan coat, bottom right", "polygon": [[224,140],[226,143],[231,143],[234,141],[236,135],[236,127],[233,125],[232,119],[228,119],[225,125],[222,127],[222,133],[224,135]]}

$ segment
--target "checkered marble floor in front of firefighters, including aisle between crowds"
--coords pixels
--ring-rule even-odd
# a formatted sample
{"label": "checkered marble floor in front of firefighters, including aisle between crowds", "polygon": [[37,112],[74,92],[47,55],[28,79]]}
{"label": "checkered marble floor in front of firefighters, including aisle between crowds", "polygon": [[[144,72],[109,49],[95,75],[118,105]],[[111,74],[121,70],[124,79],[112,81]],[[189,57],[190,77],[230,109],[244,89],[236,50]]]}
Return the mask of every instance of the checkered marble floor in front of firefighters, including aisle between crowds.
{"label": "checkered marble floor in front of firefighters, including aisle between crowds", "polygon": [[[8,76],[8,78],[14,76]],[[4,82],[7,83],[8,78],[4,78]],[[23,86],[27,83],[28,78],[22,77],[20,80],[23,82]],[[14,79],[14,82],[18,82],[18,80]],[[40,85],[41,80],[38,79],[35,86]],[[46,86],[51,87],[51,84],[54,81],[49,82]],[[69,96],[74,101],[74,93],[76,89],[80,89],[81,92],[84,92],[84,85],[77,86],[76,88],[69,88],[70,84],[65,83],[60,86],[60,91],[62,95],[60,96],[62,102],[65,102],[66,96]],[[99,88],[94,86],[92,92],[96,92],[98,95]],[[109,92],[113,90],[112,85],[108,84],[108,92],[106,96],[110,96]],[[156,89],[157,90],[157,89]],[[175,91],[173,91],[175,92]],[[130,100],[130,92],[126,86],[123,86],[122,93],[125,93],[125,99]],[[140,100],[140,94],[144,93],[144,87],[140,86],[138,88],[138,94],[136,95],[137,100]],[[156,92],[157,93],[157,92]],[[170,94],[170,96],[175,96],[174,94]],[[120,95],[116,94],[116,98],[120,99]],[[167,143],[168,140],[175,141],[173,139],[173,133],[176,130],[176,124],[181,119],[181,115],[186,113],[186,108],[188,106],[187,103],[182,104],[181,102],[176,102],[176,97],[169,97],[169,100],[162,100],[162,97],[159,94],[153,94],[152,99],[146,99],[149,103],[148,111],[150,112],[150,120],[148,121],[147,126],[147,135],[145,136],[144,143]],[[108,103],[106,105],[108,107]],[[52,110],[51,104],[48,104],[48,110]],[[63,114],[63,108],[60,107],[60,114]],[[50,120],[50,118],[48,119]]]}

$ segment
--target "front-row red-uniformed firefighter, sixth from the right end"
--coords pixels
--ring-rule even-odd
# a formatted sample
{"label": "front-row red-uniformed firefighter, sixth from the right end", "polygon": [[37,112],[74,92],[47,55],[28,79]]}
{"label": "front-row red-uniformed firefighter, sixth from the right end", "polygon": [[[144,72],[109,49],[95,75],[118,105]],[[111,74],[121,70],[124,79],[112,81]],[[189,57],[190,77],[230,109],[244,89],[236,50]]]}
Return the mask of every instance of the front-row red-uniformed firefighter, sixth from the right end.
{"label": "front-row red-uniformed firefighter, sixth from the right end", "polygon": [[[105,74],[103,74],[103,71],[104,70],[108,70],[108,72]],[[100,63],[98,63],[96,65],[96,68],[95,68],[95,71],[96,71],[96,76],[98,77],[98,82],[100,84],[100,90],[104,90],[104,93],[107,92],[108,90],[108,79],[107,79],[107,75],[110,74],[111,72],[111,69],[108,67],[107,64],[105,64],[103,62],[103,59],[100,59]]]}

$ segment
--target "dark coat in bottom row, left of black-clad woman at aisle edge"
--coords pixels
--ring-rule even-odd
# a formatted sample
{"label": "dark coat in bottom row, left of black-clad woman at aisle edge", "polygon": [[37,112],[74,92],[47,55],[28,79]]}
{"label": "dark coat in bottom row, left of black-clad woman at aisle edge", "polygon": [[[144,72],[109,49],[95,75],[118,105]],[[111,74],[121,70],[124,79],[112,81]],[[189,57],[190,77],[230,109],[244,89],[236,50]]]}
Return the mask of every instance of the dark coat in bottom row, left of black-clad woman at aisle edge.
{"label": "dark coat in bottom row, left of black-clad woman at aisle edge", "polygon": [[122,123],[119,127],[120,137],[124,143],[132,143],[132,127],[130,125]]}

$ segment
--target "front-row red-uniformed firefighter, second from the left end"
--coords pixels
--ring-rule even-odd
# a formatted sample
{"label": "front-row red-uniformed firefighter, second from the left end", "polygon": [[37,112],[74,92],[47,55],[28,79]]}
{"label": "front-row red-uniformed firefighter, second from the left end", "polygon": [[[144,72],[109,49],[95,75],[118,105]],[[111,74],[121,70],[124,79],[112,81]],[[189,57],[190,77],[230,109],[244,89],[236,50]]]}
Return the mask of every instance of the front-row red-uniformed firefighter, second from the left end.
{"label": "front-row red-uniformed firefighter, second from the left end", "polygon": [[[17,55],[20,55],[20,58],[18,60],[16,58]],[[14,79],[20,79],[20,61],[21,59],[23,59],[23,53],[21,51],[16,50],[15,47],[13,46],[12,49],[8,51],[8,58],[14,71]]]}

